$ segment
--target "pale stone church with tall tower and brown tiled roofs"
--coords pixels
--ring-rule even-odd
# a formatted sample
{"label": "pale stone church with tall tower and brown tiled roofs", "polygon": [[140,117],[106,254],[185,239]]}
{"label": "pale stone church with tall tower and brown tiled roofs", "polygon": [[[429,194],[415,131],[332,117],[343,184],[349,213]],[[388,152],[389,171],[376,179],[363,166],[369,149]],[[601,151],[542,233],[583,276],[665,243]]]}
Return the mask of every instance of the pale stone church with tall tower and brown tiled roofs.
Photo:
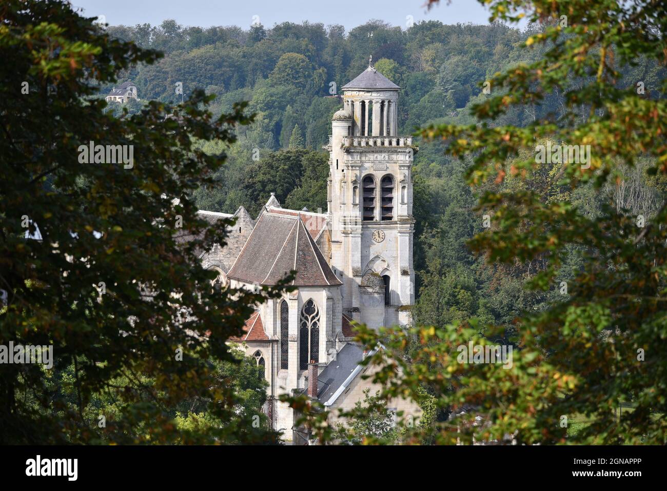
{"label": "pale stone church with tall tower and brown tiled roofs", "polygon": [[[269,383],[265,412],[285,440],[307,444],[279,394],[305,393],[333,413],[378,388],[358,364],[352,322],[372,328],[410,325],[414,304],[412,137],[398,135],[400,87],[369,63],[342,87],[343,108],[331,121],[326,213],[285,209],[269,197],[256,219],[199,211],[211,221],[235,217],[224,248],[201,257],[216,282],[232,288],[272,285],[290,270],[295,291],[268,300],[245,322],[237,342]],[[381,348],[378,348],[381,349]],[[392,411],[418,417],[411,401]],[[335,416],[333,416],[335,418]]]}

